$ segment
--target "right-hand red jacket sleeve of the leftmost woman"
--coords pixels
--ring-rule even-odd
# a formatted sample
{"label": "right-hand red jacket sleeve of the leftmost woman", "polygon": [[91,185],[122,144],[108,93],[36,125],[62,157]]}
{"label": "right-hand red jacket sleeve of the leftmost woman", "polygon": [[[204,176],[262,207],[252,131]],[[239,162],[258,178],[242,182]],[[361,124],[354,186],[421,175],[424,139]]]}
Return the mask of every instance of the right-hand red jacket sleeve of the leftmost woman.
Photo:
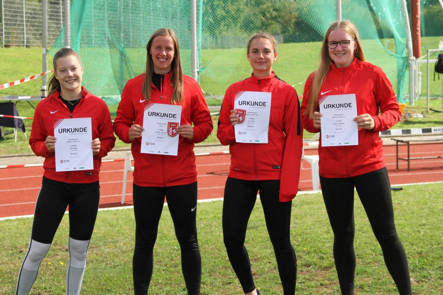
{"label": "right-hand red jacket sleeve of the leftmost woman", "polygon": [[111,114],[109,114],[109,109],[100,99],[100,103],[102,104],[102,111],[100,114],[100,124],[98,126],[98,139],[100,140],[100,150],[98,154],[94,156],[95,159],[101,159],[105,157],[108,152],[114,148],[115,145],[115,136],[114,130],[112,128],[111,122]]}

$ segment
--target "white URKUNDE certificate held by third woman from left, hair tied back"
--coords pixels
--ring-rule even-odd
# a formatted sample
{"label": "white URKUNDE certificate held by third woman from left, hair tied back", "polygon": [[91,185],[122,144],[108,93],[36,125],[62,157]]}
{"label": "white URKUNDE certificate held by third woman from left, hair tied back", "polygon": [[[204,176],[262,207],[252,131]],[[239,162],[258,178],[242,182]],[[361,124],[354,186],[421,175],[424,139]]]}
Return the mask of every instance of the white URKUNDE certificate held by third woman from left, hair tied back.
{"label": "white URKUNDE certificate held by third woman from left, hair tied back", "polygon": [[234,97],[235,142],[267,144],[271,92],[236,91]]}

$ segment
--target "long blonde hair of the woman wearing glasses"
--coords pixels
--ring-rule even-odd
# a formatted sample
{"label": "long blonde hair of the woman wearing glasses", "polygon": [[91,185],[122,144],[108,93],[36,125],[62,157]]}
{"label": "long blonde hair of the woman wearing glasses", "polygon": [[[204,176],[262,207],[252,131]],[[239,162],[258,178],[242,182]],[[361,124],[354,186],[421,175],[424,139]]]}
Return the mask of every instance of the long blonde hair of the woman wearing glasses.
{"label": "long blonde hair of the woman wearing glasses", "polygon": [[330,32],[334,29],[343,29],[345,32],[351,35],[351,37],[355,39],[355,42],[357,43],[357,48],[354,51],[354,57],[358,60],[366,61],[365,55],[363,54],[363,47],[360,43],[360,37],[358,36],[358,32],[355,26],[349,21],[336,21],[335,23],[333,23],[326,31],[323,43],[321,44],[320,64],[315,71],[314,78],[312,78],[314,79],[312,87],[308,91],[308,107],[306,108],[304,115],[309,115],[309,118],[314,118],[314,112],[318,111],[318,92],[320,91],[320,88],[323,85],[324,80],[326,79],[326,75],[331,68],[332,59],[329,56],[328,38]]}

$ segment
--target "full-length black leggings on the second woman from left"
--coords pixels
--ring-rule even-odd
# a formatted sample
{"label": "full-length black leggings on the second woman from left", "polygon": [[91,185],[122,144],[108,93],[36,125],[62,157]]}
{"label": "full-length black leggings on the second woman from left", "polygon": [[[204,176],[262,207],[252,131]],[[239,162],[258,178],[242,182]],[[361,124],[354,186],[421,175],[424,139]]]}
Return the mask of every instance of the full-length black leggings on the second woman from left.
{"label": "full-length black leggings on the second woman from left", "polygon": [[133,184],[135,249],[132,260],[135,295],[148,294],[153,272],[153,249],[164,197],[182,253],[182,271],[189,295],[200,294],[201,258],[197,241],[197,182],[170,187]]}

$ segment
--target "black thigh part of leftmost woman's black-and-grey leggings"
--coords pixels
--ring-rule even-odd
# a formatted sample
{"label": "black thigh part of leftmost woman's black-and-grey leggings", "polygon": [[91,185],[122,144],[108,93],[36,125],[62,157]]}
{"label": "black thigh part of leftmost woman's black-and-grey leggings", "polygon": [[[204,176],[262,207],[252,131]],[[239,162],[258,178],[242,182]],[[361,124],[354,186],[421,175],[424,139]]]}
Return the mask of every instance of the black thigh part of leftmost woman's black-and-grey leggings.
{"label": "black thigh part of leftmost woman's black-and-grey leggings", "polygon": [[99,203],[98,188],[88,192],[67,193],[42,186],[35,204],[31,238],[44,244],[52,243],[69,205],[69,236],[82,241],[91,239]]}

